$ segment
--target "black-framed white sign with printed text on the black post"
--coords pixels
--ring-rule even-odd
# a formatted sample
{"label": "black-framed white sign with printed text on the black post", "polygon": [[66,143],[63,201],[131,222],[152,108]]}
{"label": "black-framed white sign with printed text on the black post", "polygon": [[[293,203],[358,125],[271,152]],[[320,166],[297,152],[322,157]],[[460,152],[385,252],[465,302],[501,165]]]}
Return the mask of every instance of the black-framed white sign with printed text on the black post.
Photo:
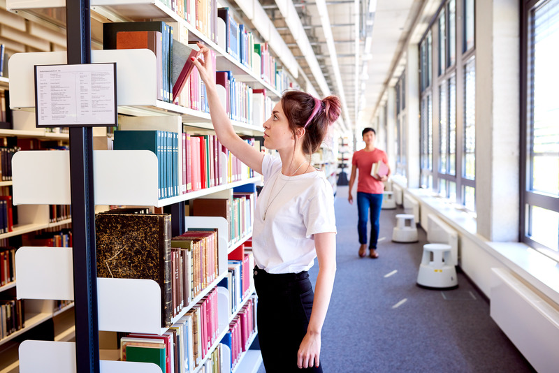
{"label": "black-framed white sign with printed text on the black post", "polygon": [[36,65],[36,126],[116,126],[116,81],[115,63]]}

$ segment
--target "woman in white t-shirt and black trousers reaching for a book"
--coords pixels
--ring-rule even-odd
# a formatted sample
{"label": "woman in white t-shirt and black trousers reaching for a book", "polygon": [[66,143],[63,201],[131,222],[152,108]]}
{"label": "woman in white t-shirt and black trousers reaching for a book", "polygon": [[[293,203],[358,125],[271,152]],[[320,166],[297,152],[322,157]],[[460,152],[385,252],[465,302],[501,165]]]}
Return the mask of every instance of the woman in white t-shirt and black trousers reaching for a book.
{"label": "woman in white t-shirt and black trousers reaching for a book", "polygon": [[[259,342],[266,372],[322,372],[321,330],[335,277],[335,217],[331,184],[311,166],[340,100],[285,92],[264,124],[264,146],[243,141],[219,102],[210,51],[193,59],[205,83],[215,133],[243,163],[264,176],[253,227],[254,284],[259,297]],[[315,292],[307,270],[319,261]]]}

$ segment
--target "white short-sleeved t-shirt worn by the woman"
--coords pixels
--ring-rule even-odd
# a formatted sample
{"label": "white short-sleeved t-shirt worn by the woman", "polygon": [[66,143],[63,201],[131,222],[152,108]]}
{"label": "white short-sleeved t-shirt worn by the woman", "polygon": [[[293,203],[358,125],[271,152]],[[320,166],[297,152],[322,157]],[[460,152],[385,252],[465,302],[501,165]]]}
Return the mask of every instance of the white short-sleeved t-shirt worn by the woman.
{"label": "white short-sleeved t-shirt worn by the woman", "polygon": [[256,201],[252,233],[254,261],[268,273],[309,270],[317,257],[313,235],[336,233],[332,186],[324,171],[283,175],[281,159],[269,154],[262,161],[262,174],[265,184]]}

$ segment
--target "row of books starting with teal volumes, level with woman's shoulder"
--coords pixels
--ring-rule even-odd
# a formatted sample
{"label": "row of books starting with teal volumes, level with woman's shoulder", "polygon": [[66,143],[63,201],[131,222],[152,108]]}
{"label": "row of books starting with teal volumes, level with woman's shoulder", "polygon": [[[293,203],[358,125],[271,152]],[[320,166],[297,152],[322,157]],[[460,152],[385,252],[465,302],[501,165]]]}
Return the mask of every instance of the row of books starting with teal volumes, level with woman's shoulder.
{"label": "row of books starting with teal volumes, level with woman's shoulder", "polygon": [[[179,136],[182,159],[179,159]],[[254,138],[245,141],[257,145]],[[115,131],[113,149],[150,150],[157,156],[160,199],[254,176],[254,171],[222,146],[215,135]]]}

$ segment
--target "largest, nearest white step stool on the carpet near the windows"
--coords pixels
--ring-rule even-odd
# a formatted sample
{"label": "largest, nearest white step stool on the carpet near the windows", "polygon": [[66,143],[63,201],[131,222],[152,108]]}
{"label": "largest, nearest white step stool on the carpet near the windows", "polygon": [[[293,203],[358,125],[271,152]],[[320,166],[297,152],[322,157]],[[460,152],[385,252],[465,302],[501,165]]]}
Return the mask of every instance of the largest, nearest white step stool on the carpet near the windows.
{"label": "largest, nearest white step stool on the carpet near the windows", "polygon": [[[431,260],[433,256],[433,260]],[[456,288],[458,277],[451,260],[449,244],[423,245],[423,257],[417,274],[417,284],[426,288]]]}

